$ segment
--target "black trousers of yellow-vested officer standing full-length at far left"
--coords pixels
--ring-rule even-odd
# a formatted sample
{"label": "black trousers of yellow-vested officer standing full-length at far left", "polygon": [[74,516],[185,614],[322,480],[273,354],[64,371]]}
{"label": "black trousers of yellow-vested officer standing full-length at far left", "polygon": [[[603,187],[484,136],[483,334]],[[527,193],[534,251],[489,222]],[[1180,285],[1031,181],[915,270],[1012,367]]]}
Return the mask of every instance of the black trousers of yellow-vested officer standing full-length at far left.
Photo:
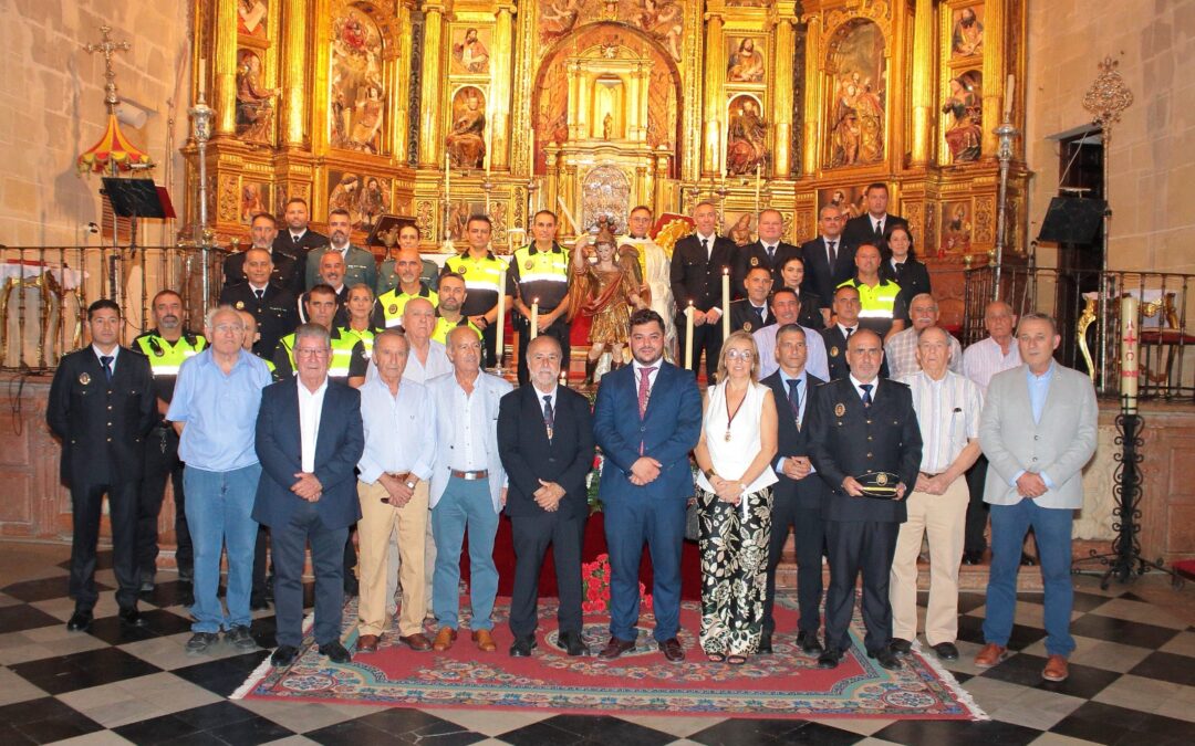
{"label": "black trousers of yellow-vested officer standing full-length at far left", "polygon": [[154,427],[146,436],[146,468],[137,503],[137,568],[143,580],[152,580],[158,568],[158,516],[166,498],[166,480],[174,488],[174,561],[180,574],[195,566],[191,532],[186,529],[186,497],[183,491],[183,462],[178,460],[178,436],[173,427]]}

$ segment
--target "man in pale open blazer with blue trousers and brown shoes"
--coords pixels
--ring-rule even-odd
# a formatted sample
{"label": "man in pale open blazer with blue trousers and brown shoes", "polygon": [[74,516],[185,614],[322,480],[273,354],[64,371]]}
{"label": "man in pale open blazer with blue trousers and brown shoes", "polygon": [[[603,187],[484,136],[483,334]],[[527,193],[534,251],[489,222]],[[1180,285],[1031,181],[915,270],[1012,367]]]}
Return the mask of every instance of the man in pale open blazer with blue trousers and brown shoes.
{"label": "man in pale open blazer with blue trousers and brown shoes", "polygon": [[443,652],[456,640],[460,624],[460,549],[468,531],[470,605],[473,642],[492,653],[494,598],[498,569],[494,536],[507,503],[507,473],[498,456],[498,400],[509,383],[482,371],[482,340],[470,327],[448,334],[453,372],[428,381],[436,403],[436,461],[431,470],[431,532],[436,569],[431,608],[439,631],[431,649]]}

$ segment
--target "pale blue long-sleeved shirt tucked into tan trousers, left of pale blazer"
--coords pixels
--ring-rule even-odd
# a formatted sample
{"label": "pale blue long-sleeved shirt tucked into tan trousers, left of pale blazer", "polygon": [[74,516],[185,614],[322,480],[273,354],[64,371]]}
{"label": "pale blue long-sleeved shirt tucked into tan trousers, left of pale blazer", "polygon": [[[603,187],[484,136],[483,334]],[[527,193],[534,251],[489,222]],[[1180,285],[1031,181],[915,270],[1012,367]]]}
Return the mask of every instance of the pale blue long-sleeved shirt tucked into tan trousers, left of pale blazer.
{"label": "pale blue long-sleeved shirt tucked into tan trousers, left of pale blazer", "polygon": [[361,421],[366,450],[357,462],[361,481],[374,483],[384,473],[410,471],[431,477],[436,460],[436,402],[422,384],[403,380],[392,396],[380,377],[361,387]]}

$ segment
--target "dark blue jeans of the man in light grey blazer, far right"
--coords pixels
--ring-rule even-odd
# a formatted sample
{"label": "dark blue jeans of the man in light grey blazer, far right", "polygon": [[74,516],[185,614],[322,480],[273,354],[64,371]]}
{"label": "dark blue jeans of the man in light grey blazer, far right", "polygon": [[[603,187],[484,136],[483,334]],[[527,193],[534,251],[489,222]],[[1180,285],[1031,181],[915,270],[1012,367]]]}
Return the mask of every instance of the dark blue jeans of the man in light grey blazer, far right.
{"label": "dark blue jeans of the man in light grey blazer, far right", "polygon": [[1037,561],[1046,586],[1046,652],[1070,655],[1074,651],[1071,636],[1071,606],[1074,586],[1071,581],[1071,528],[1074,511],[1042,507],[1024,499],[1016,505],[992,505],[992,568],[987,581],[987,617],[983,640],[1007,645],[1017,606],[1017,573],[1021,548],[1030,526],[1037,537]]}

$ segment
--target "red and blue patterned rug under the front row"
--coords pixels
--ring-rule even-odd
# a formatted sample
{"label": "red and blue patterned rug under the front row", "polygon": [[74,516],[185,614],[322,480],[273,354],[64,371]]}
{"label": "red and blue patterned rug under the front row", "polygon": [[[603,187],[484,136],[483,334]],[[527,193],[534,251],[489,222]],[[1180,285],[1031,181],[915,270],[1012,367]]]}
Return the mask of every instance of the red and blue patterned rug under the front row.
{"label": "red and blue patterned rug under the front row", "polygon": [[[737,717],[884,717],[909,720],[986,720],[970,696],[919,648],[900,671],[885,671],[862,647],[856,611],[852,649],[838,668],[817,668],[816,659],[796,646],[795,600],[778,599],[774,654],[755,655],[746,665],[705,660],[697,645],[699,610],[681,609],[680,640],[688,658],[669,664],[651,639],[654,619],[641,621],[635,651],[614,661],[569,658],[557,647],[556,599],[540,603],[538,647],[532,658],[510,658],[507,625],[509,599],[495,606],[496,653],[482,653],[467,625],[446,653],[415,653],[392,629],[376,653],[356,655],[337,666],[319,654],[308,636],[299,660],[278,671],[266,659],[233,698],[284,698],[314,702],[403,707],[497,707],[516,710]],[[467,599],[462,600],[467,609]],[[356,643],[356,600],[344,610],[344,643]],[[609,637],[608,617],[586,617],[584,637],[596,652]],[[311,618],[307,619],[310,633]],[[429,629],[429,636],[431,634]]]}

